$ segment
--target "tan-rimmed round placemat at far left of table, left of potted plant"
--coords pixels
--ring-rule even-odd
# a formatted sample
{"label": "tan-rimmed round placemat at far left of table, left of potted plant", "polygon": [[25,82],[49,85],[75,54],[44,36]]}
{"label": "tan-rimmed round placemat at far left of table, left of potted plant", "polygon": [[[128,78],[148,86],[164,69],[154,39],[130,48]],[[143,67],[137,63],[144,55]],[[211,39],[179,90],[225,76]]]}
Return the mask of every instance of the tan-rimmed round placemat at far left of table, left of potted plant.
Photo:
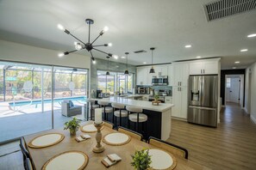
{"label": "tan-rimmed round placemat at far left of table, left of potted plant", "polygon": [[[59,136],[59,139],[54,141],[53,140],[53,143],[49,143],[47,142],[47,136],[50,138],[50,137],[53,137],[53,135],[57,135]],[[41,149],[41,148],[46,148],[46,147],[49,147],[49,146],[53,146],[57,143],[60,143],[63,139],[64,139],[64,135],[63,134],[60,134],[60,133],[47,133],[47,134],[44,134],[44,135],[41,135],[39,137],[34,137],[34,139],[32,139],[29,143],[28,143],[28,147],[30,148],[34,148],[34,149]],[[42,140],[42,143],[44,143],[43,141],[45,141],[45,143],[47,142],[47,144],[43,144],[43,145],[36,145],[34,144],[34,141],[35,140]]]}

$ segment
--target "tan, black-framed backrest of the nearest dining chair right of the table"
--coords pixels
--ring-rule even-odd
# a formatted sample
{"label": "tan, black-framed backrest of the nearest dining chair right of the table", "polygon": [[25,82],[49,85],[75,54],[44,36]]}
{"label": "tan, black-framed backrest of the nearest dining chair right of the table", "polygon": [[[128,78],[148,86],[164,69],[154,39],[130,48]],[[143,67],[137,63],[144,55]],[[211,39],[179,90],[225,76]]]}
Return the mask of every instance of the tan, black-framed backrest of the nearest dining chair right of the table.
{"label": "tan, black-framed backrest of the nearest dining chair right of the table", "polygon": [[189,157],[189,152],[187,149],[184,149],[176,144],[168,143],[168,142],[158,139],[156,137],[149,137],[148,143],[152,144],[153,146],[156,146],[160,149],[167,150],[168,152],[171,152],[172,154],[182,156],[185,159],[188,159],[188,157]]}

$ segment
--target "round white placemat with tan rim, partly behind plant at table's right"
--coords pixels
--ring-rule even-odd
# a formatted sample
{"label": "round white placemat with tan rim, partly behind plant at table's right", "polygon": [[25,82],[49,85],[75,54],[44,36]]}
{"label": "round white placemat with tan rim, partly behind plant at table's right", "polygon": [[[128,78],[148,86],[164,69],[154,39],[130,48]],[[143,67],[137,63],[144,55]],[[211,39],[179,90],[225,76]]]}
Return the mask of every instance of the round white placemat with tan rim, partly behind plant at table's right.
{"label": "round white placemat with tan rim, partly behind plant at table's right", "polygon": [[[161,150],[161,149],[149,149],[149,154],[152,154],[152,153],[150,153],[150,150],[154,153],[159,152],[159,153],[156,153],[156,155],[154,155],[154,158],[152,159],[152,161],[159,162],[160,167],[153,167],[153,169],[172,170],[177,166],[177,160],[175,159],[175,157],[172,154],[167,153],[167,152],[165,152],[164,150]],[[166,157],[163,157],[163,156],[166,156]],[[170,158],[172,158],[172,165],[165,166],[165,164],[168,162],[165,159],[168,159],[168,156],[170,156]],[[151,166],[152,166],[152,164],[151,164]]]}

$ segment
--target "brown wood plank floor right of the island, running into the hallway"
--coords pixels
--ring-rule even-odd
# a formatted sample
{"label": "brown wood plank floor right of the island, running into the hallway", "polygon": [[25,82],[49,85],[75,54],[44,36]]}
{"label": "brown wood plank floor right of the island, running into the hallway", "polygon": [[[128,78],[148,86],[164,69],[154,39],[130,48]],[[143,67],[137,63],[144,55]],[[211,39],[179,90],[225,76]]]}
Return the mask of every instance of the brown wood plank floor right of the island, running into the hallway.
{"label": "brown wood plank floor right of the island, running into the hallway", "polygon": [[191,161],[212,169],[256,169],[256,124],[236,104],[222,108],[217,128],[172,120],[168,141],[188,149]]}

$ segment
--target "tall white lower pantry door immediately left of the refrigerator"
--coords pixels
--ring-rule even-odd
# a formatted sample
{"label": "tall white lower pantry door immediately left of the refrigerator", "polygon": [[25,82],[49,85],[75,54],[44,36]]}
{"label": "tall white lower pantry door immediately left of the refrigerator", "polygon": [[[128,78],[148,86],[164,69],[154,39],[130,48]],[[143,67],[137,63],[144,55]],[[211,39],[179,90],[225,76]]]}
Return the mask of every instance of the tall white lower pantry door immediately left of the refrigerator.
{"label": "tall white lower pantry door immediately left of the refrigerator", "polygon": [[172,117],[187,118],[188,107],[188,87],[174,86],[172,87]]}

